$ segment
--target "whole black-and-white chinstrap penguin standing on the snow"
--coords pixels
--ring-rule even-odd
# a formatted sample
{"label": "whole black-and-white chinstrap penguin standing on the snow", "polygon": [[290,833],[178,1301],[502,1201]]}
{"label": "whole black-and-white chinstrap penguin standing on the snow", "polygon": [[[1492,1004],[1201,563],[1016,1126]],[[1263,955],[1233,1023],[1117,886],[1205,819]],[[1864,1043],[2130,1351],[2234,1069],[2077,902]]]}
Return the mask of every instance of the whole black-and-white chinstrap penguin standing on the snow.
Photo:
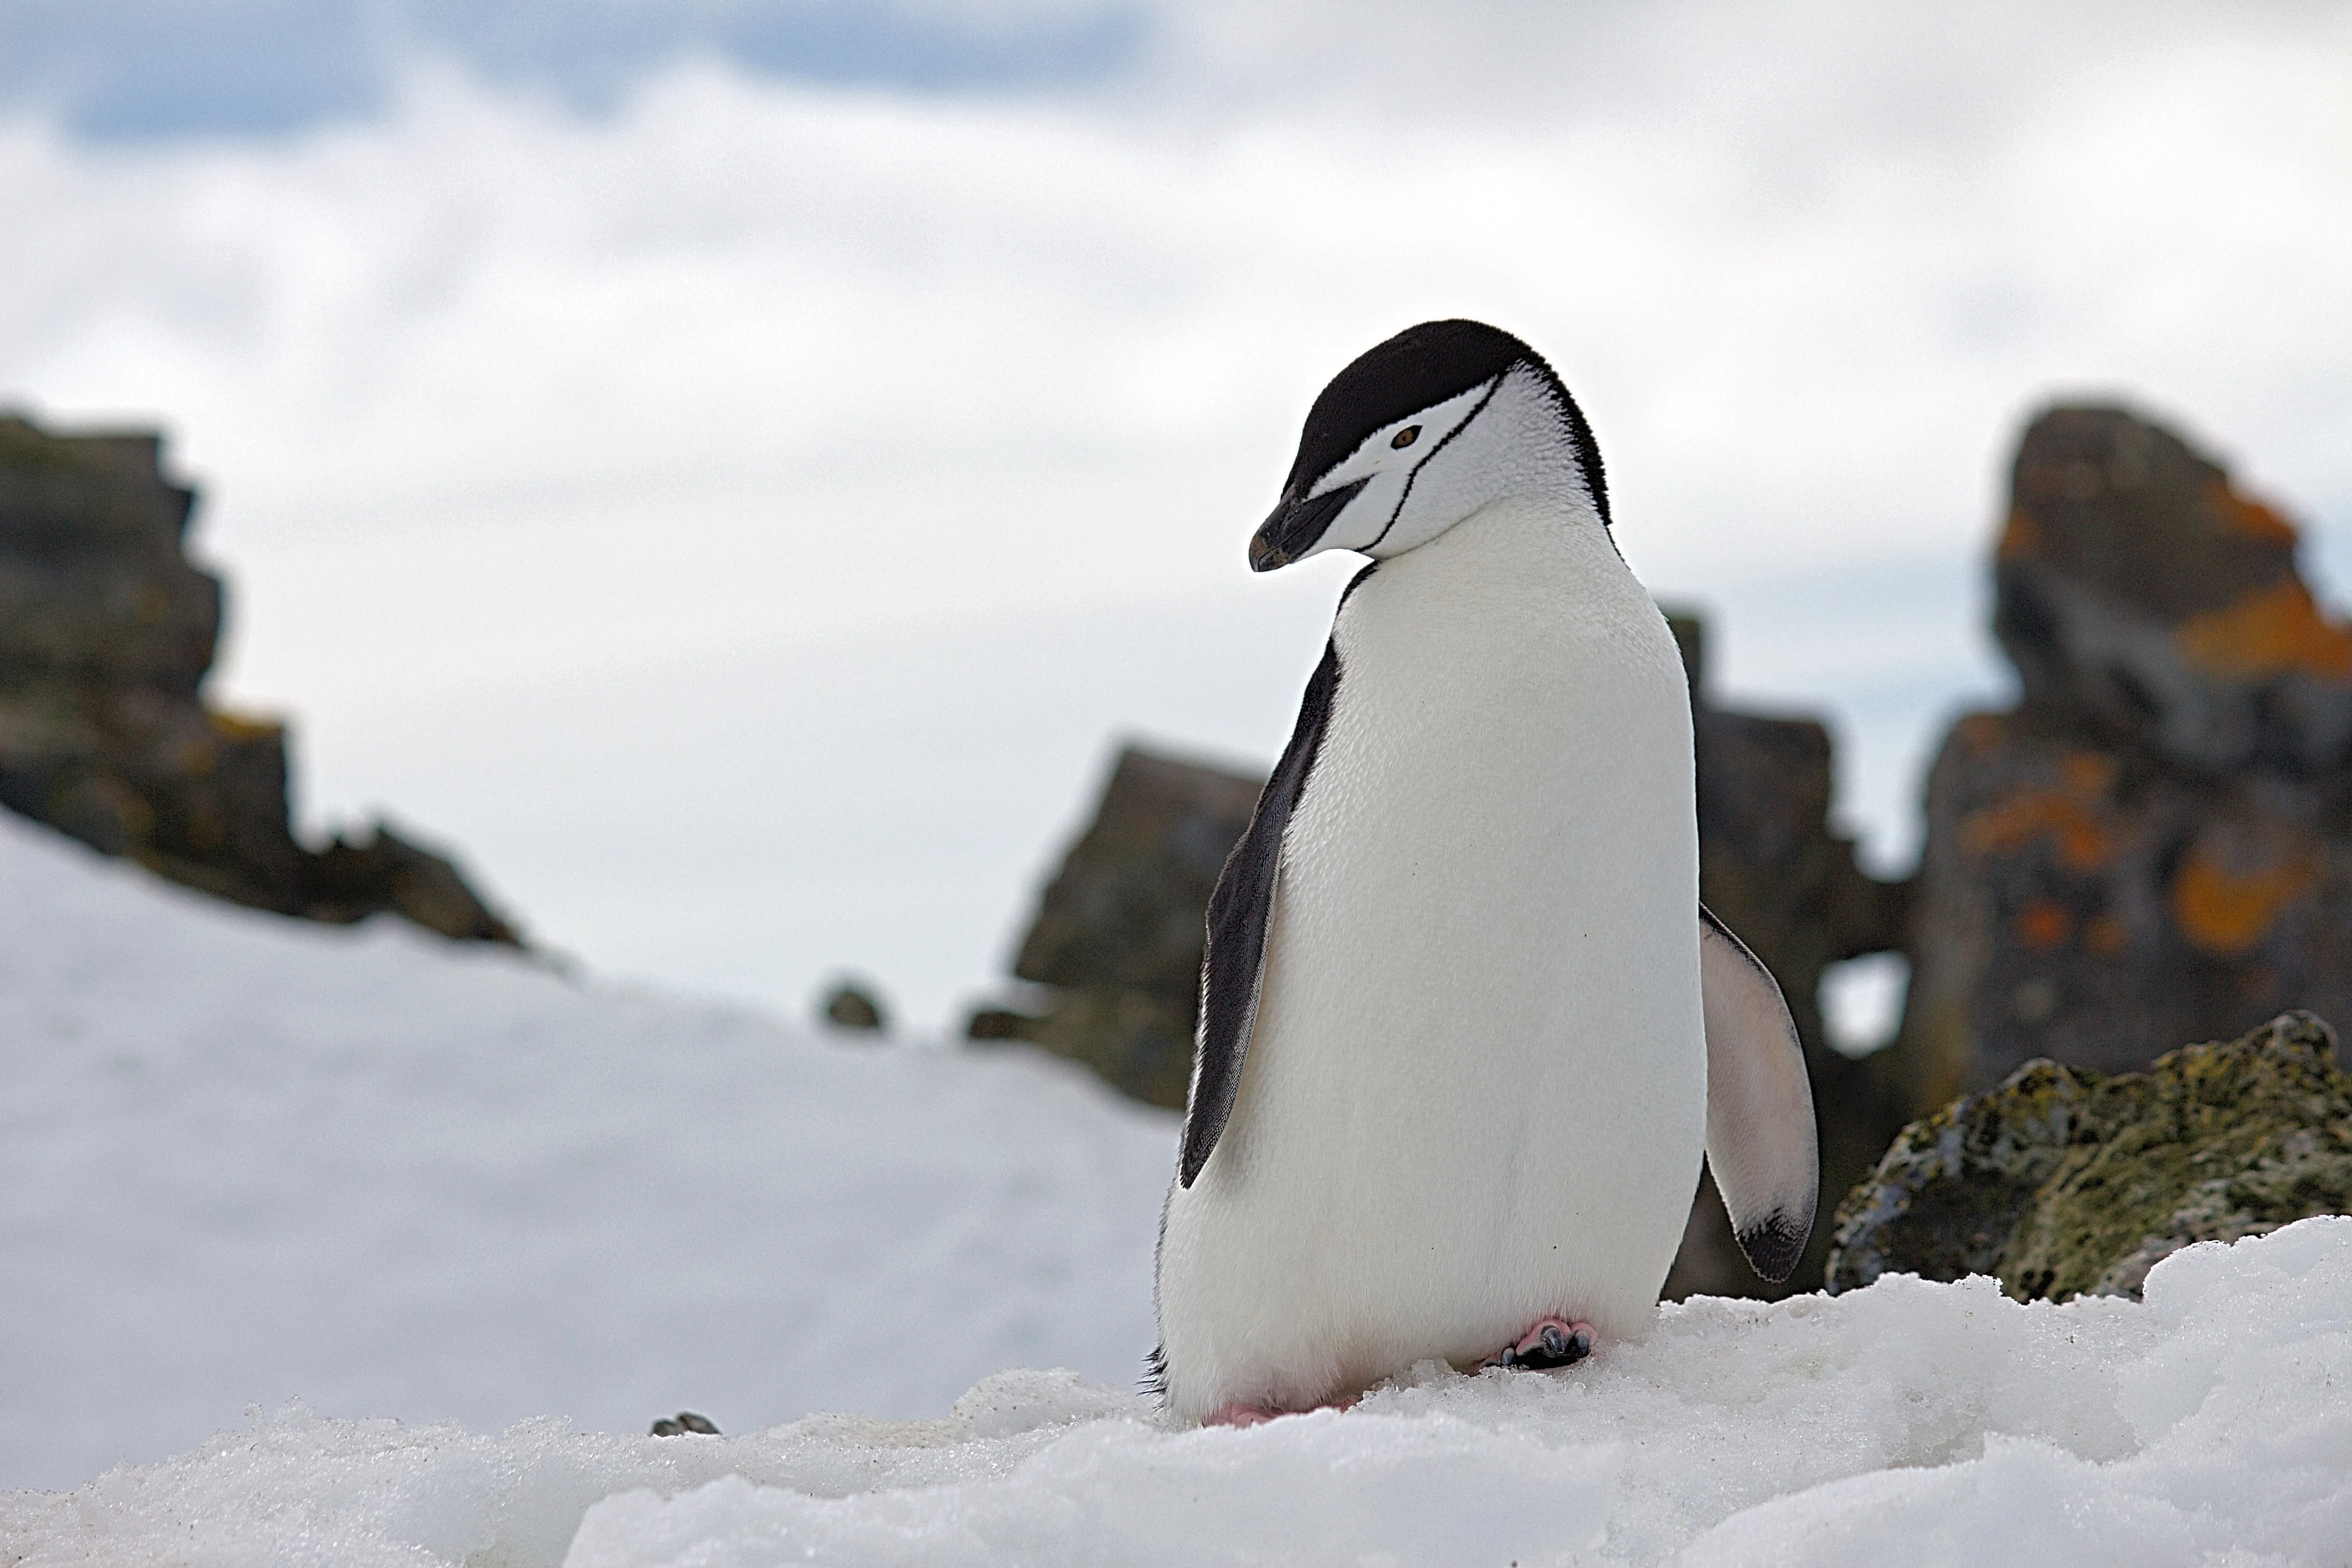
{"label": "whole black-and-white chinstrap penguin standing on the snow", "polygon": [[1656,1321],[1700,1157],[1750,1265],[1813,1227],[1780,987],[1698,903],[1691,705],[1583,409],[1423,322],[1315,400],[1249,567],[1341,595],[1207,914],[1152,1382],[1181,1422]]}

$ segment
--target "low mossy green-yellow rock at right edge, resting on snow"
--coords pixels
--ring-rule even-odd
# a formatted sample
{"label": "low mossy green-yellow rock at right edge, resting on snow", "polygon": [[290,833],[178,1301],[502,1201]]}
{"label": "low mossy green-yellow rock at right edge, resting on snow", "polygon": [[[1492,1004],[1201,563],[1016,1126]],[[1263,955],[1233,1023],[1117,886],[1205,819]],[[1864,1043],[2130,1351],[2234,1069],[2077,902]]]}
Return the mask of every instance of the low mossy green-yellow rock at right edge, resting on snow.
{"label": "low mossy green-yellow rock at right edge, resting on snow", "polygon": [[2051,1060],[1915,1121],[1837,1211],[1828,1288],[1992,1274],[2018,1300],[2138,1295],[2192,1241],[2352,1213],[2352,1077],[2281,1013],[2105,1077]]}

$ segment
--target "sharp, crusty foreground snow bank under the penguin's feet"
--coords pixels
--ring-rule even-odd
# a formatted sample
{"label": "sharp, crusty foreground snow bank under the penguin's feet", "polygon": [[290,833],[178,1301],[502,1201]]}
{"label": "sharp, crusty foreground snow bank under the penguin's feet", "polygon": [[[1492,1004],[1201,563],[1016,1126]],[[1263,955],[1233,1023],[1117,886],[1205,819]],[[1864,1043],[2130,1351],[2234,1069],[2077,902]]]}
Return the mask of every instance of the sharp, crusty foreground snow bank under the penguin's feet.
{"label": "sharp, crusty foreground snow bank under the penguin's feet", "polygon": [[1425,1366],[1178,1432],[1073,1373],[953,1415],[503,1436],[301,1408],[0,1502],[21,1568],[143,1563],[2345,1563],[2352,1218],[2194,1246],[2147,1300],[1889,1276],[1663,1307],[1562,1373]]}

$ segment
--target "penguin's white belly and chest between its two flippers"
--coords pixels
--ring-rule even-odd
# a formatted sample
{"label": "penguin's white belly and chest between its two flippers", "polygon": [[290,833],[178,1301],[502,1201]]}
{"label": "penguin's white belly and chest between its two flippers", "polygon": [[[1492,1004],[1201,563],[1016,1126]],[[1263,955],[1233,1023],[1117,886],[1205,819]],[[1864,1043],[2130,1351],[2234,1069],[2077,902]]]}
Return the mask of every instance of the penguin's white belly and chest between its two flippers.
{"label": "penguin's white belly and chest between its two flippers", "polygon": [[1298,1408],[1543,1316],[1656,1316],[1705,1138],[1682,665],[1597,529],[1385,562],[1291,816],[1232,1117],[1169,1199],[1178,1415]]}

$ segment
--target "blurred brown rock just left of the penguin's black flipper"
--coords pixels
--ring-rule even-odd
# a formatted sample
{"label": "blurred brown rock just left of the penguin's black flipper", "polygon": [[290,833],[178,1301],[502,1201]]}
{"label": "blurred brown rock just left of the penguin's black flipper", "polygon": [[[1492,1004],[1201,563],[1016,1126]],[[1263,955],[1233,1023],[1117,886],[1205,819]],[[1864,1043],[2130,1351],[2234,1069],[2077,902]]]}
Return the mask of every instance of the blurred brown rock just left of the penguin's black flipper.
{"label": "blurred brown rock just left of the penguin's black flipper", "polygon": [[969,1037],[1025,1039],[1138,1100],[1183,1107],[1204,912],[1263,785],[1263,776],[1122,750],[1014,959],[1016,978],[1054,987],[1049,1009],[983,1009]]}

